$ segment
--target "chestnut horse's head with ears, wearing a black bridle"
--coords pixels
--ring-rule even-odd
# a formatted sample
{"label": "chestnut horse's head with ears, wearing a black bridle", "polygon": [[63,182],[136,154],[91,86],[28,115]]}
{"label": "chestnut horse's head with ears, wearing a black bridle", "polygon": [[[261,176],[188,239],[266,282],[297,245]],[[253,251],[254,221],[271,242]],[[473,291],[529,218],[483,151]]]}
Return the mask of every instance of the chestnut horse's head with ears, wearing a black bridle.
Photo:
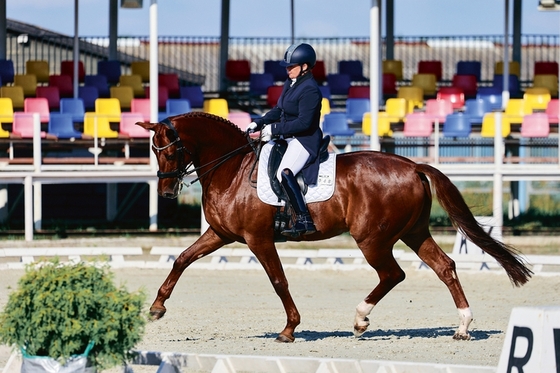
{"label": "chestnut horse's head with ears, wearing a black bridle", "polygon": [[162,123],[138,122],[140,127],[154,131],[152,151],[156,155],[159,171],[157,173],[158,193],[165,198],[177,198],[181,191],[183,176],[192,164],[191,154],[184,147],[179,133],[170,120]]}

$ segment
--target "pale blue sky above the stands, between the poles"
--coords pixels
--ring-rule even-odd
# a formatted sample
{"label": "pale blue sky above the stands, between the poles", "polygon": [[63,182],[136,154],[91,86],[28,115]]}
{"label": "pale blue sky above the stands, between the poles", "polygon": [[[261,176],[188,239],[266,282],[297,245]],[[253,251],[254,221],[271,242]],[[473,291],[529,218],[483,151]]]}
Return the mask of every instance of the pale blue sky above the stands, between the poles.
{"label": "pale blue sky above the stands, between the poles", "polygon": [[[8,19],[66,35],[74,33],[74,0],[6,2]],[[119,35],[149,35],[151,0],[143,2],[142,9],[119,8]],[[294,0],[295,36],[367,37],[371,3]],[[523,34],[560,33],[560,12],[538,11],[538,0],[522,3]],[[79,0],[80,36],[109,34],[108,4],[108,0]],[[501,35],[504,4],[504,0],[395,0],[395,36]],[[220,35],[221,0],[158,0],[157,5],[160,36]],[[232,37],[291,36],[290,0],[230,0],[230,6]],[[510,13],[512,10],[510,1]]]}

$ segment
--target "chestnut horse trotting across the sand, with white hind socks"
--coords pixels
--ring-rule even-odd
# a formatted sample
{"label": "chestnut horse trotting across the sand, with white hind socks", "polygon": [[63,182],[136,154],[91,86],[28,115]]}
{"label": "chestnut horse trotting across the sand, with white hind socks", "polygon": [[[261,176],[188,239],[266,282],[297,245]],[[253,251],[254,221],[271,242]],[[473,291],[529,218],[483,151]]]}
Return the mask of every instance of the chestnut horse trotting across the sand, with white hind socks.
{"label": "chestnut horse trotting across the sand, with white hind socks", "polygon": [[[204,215],[210,226],[173,263],[150,308],[152,318],[163,317],[165,301],[191,263],[237,241],[247,244],[254,253],[284,306],[287,323],[276,341],[293,342],[300,314],[275,247],[276,207],[261,202],[250,182],[257,158],[254,145],[250,146],[251,141],[233,123],[201,112],[173,116],[162,123],[137,124],[154,131],[152,150],[159,165],[158,193],[176,198],[183,177],[196,172],[202,186]],[[514,285],[521,286],[531,277],[532,272],[517,251],[484,231],[459,190],[436,168],[375,151],[340,154],[336,158],[334,195],[309,205],[317,232],[288,240],[324,240],[344,232],[354,238],[379,276],[378,285],[356,307],[357,337],[369,326],[368,315],[373,307],[405,278],[392,253],[393,245],[402,240],[449,289],[460,319],[453,338],[470,339],[472,313],[455,263],[430,234],[430,182],[455,227],[494,257]]]}

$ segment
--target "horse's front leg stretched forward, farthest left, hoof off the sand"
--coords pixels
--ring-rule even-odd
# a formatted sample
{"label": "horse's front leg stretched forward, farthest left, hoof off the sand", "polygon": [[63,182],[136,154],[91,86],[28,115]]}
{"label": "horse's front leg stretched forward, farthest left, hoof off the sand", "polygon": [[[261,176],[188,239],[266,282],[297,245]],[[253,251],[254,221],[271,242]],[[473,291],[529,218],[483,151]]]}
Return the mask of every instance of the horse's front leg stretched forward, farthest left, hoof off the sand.
{"label": "horse's front leg stretched forward, farthest left, hoof off the sand", "polygon": [[175,259],[173,263],[173,268],[167,278],[160,286],[158,294],[154,303],[150,307],[150,315],[153,320],[161,319],[165,315],[165,306],[163,305],[167,299],[171,296],[173,288],[179,281],[179,277],[183,271],[196,260],[218,250],[220,247],[224,246],[228,242],[224,242],[218,235],[208,228],[206,232],[195,243],[193,243],[189,248],[185,249],[181,255]]}

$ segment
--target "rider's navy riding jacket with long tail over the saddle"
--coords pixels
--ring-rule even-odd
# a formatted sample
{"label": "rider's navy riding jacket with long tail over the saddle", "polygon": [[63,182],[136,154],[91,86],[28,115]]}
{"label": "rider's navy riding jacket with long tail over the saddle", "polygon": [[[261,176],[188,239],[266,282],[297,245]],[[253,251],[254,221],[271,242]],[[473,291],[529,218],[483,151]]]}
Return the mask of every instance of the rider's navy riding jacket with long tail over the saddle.
{"label": "rider's navy riding jacket with long tail over the saddle", "polygon": [[295,137],[309,153],[309,159],[302,169],[307,184],[317,184],[319,173],[319,147],[323,131],[319,127],[321,100],[323,95],[311,72],[299,77],[294,85],[288,79],[276,106],[262,118],[256,119],[257,129],[270,124],[272,135],[284,138]]}

